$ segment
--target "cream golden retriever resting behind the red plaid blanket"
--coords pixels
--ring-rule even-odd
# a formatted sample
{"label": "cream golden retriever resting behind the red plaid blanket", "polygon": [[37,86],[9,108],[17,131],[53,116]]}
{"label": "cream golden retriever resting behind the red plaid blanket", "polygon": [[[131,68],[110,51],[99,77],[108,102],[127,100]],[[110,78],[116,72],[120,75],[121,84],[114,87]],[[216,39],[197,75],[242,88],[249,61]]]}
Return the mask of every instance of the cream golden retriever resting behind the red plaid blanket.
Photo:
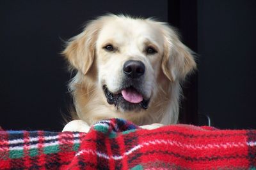
{"label": "cream golden retriever resting behind the red plaid blanket", "polygon": [[77,71],[69,89],[78,119],[63,131],[88,131],[84,127],[108,118],[141,126],[176,124],[180,84],[196,69],[193,52],[175,29],[125,15],[88,22],[62,55]]}

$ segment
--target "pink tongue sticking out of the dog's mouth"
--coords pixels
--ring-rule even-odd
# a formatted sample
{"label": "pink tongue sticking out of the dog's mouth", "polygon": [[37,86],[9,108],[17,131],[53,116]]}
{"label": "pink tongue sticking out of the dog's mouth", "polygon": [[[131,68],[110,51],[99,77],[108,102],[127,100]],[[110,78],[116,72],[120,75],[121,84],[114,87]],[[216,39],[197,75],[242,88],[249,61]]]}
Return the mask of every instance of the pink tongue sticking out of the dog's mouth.
{"label": "pink tongue sticking out of the dog's mouth", "polygon": [[124,89],[122,90],[122,96],[126,101],[130,103],[140,103],[143,101],[143,97],[134,89]]}

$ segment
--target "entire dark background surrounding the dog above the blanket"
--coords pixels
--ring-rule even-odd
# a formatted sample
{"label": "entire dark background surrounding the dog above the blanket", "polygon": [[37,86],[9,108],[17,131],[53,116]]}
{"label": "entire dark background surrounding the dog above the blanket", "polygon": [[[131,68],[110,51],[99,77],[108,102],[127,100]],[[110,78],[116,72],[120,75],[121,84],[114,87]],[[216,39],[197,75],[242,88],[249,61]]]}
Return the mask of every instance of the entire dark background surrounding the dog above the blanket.
{"label": "entire dark background surrounding the dog above the blanket", "polygon": [[180,122],[256,128],[255,1],[0,1],[0,125],[61,131],[72,100],[63,40],[105,13],[156,17],[198,53]]}

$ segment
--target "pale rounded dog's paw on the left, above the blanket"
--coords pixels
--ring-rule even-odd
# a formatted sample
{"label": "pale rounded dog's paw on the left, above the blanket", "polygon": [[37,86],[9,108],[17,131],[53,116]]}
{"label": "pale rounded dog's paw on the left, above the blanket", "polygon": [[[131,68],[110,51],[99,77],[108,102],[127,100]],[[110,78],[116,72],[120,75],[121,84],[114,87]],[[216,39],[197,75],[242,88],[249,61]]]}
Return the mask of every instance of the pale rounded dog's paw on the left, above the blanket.
{"label": "pale rounded dog's paw on the left, above the blanket", "polygon": [[72,120],[63,128],[62,132],[89,132],[90,126],[83,120]]}

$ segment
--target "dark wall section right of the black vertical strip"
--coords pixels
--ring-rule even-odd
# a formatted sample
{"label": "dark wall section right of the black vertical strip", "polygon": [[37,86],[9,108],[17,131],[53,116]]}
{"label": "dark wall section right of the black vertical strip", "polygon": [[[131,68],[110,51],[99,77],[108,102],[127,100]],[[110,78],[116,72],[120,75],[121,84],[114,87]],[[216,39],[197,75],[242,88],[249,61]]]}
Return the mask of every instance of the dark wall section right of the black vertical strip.
{"label": "dark wall section right of the black vertical strip", "polygon": [[221,128],[256,128],[256,1],[198,0],[198,110]]}

